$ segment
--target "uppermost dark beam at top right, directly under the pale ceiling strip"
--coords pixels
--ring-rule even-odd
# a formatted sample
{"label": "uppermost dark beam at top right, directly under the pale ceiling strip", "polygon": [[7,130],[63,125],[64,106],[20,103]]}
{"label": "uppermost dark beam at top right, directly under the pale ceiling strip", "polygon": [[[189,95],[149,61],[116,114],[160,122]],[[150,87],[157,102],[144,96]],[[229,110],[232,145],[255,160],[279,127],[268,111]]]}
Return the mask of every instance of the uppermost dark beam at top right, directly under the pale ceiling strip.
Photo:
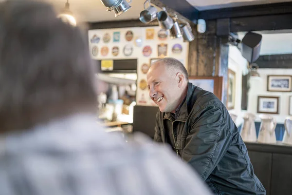
{"label": "uppermost dark beam at top right, directly under the pale ceiling strip", "polygon": [[223,18],[239,18],[247,16],[276,15],[292,13],[292,2],[269,3],[263,5],[238,6],[201,11],[199,18],[214,20]]}

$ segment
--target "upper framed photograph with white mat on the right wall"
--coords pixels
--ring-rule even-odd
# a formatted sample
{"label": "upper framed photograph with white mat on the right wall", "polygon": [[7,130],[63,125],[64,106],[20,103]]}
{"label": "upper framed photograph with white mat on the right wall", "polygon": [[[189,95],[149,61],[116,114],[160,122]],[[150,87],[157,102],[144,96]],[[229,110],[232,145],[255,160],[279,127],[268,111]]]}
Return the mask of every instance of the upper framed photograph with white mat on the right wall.
{"label": "upper framed photograph with white mat on the right wall", "polygon": [[289,75],[268,75],[267,91],[291,92],[292,76]]}

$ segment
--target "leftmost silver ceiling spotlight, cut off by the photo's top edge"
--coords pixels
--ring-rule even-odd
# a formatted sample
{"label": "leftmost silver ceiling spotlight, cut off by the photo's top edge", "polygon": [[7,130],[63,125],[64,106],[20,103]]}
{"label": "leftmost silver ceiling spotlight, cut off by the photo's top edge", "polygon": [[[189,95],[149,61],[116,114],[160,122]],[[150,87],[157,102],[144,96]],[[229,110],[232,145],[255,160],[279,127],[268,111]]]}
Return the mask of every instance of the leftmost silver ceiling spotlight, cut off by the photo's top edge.
{"label": "leftmost silver ceiling spotlight, cut off by the photo's top edge", "polygon": [[101,2],[104,4],[104,6],[108,7],[108,12],[113,10],[115,17],[117,17],[131,8],[129,3],[131,3],[132,0],[129,0],[129,2],[126,0],[101,0]]}

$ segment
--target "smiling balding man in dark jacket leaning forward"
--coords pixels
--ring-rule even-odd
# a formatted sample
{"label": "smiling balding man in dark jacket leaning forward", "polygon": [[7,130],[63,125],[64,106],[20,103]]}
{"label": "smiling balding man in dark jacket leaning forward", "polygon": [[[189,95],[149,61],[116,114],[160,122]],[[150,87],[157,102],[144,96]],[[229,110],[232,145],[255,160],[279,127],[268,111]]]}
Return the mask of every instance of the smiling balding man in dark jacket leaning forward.
{"label": "smiling balding man in dark jacket leaning forward", "polygon": [[214,94],[189,83],[180,61],[155,61],[147,85],[160,109],[155,141],[170,144],[216,195],[266,194],[225,106]]}

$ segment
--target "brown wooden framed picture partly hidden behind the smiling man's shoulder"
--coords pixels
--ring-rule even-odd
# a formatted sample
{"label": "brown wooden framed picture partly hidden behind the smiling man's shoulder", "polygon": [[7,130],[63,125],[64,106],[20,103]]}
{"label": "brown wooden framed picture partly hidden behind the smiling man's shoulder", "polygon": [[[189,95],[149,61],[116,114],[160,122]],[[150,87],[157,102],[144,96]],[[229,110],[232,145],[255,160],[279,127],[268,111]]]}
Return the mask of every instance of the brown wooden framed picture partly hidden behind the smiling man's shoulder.
{"label": "brown wooden framed picture partly hidden behind the smiling man's shoulder", "polygon": [[189,82],[203,90],[212,92],[222,101],[223,77],[189,77]]}

